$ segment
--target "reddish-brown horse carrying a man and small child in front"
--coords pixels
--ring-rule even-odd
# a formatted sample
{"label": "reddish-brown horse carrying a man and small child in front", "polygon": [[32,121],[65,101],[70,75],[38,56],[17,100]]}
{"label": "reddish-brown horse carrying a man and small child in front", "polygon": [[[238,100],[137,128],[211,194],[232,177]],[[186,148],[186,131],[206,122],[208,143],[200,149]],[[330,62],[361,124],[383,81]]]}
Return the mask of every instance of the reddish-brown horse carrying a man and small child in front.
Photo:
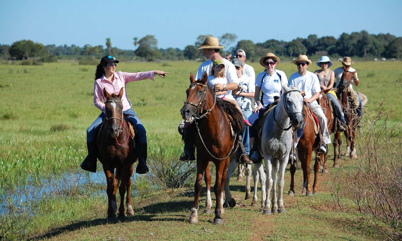
{"label": "reddish-brown horse carrying a man and small child in front", "polygon": [[[207,183],[207,205],[204,212],[209,212],[211,200],[209,189],[211,186],[211,173],[209,162],[216,166],[216,180],[214,192],[216,197],[214,224],[222,224],[223,195],[226,170],[228,169],[230,155],[236,151],[238,135],[244,130],[242,114],[226,100],[214,98],[211,89],[207,87],[207,74],[204,72],[201,80],[195,80],[190,75],[190,87],[186,90],[187,100],[180,112],[186,123],[193,123],[190,136],[195,139],[197,149],[197,177],[194,185],[195,197],[191,205],[190,223],[198,222],[198,200],[202,188],[202,178],[205,172]],[[209,197],[208,197],[209,196]]]}

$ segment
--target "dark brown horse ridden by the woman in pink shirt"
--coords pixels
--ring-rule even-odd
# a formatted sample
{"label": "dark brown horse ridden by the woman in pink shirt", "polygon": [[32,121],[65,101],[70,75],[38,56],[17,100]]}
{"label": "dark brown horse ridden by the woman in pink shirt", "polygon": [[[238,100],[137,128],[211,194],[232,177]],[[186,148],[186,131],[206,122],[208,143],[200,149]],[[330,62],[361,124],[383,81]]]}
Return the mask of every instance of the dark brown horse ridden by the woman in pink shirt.
{"label": "dark brown horse ridden by the woman in pink shirt", "polygon": [[[124,215],[124,195],[126,196],[127,215],[134,214],[131,203],[131,175],[133,163],[137,160],[137,151],[134,151],[134,141],[130,138],[127,121],[123,118],[123,88],[119,94],[110,95],[105,89],[105,120],[98,133],[98,159],[103,165],[107,182],[107,219],[116,218],[116,190],[119,188],[120,206],[119,218]],[[116,169],[116,172],[115,172]]]}

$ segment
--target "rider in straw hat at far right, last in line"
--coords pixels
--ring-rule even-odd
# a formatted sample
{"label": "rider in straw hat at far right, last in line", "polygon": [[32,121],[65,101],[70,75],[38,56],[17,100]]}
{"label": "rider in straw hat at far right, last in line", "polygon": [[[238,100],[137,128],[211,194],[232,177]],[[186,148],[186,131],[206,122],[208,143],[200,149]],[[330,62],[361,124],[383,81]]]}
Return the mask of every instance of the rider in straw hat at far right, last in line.
{"label": "rider in straw hat at far right, last in line", "polygon": [[[353,69],[351,67],[351,65],[354,63],[352,61],[351,57],[343,57],[343,59],[339,59],[339,62],[342,63],[343,67],[339,67],[339,68],[336,68],[334,70],[334,74],[335,74],[335,78],[336,78],[336,88],[339,85],[340,78],[342,77],[343,72],[345,72],[345,71],[349,71],[349,72],[356,71],[356,69]],[[357,72],[356,72],[355,76],[356,76],[356,79],[354,81],[355,82],[354,84],[355,84],[355,86],[359,86],[359,78],[357,77]],[[360,98],[359,94],[357,92],[355,92],[355,90],[353,90],[352,84],[349,86],[348,94],[353,100],[353,103],[352,103],[353,108],[357,108],[357,114],[361,118],[361,116],[363,116],[363,103],[361,101],[361,98]],[[359,118],[359,122],[357,123],[357,127],[361,127],[360,118]]]}

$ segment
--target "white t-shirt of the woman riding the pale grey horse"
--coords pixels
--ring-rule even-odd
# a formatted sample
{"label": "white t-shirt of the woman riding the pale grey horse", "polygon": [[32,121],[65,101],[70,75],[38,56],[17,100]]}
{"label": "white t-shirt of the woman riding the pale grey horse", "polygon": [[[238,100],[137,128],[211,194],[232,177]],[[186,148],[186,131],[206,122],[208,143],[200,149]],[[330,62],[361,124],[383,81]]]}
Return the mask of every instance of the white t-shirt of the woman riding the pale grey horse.
{"label": "white t-shirt of the woman riding the pale grey horse", "polygon": [[[278,74],[281,76],[279,78]],[[267,74],[267,71],[257,75],[255,86],[261,88],[260,98],[261,104],[267,106],[274,102],[274,96],[281,96],[282,84],[287,85],[287,77],[285,72],[275,69],[275,74],[272,76]]]}

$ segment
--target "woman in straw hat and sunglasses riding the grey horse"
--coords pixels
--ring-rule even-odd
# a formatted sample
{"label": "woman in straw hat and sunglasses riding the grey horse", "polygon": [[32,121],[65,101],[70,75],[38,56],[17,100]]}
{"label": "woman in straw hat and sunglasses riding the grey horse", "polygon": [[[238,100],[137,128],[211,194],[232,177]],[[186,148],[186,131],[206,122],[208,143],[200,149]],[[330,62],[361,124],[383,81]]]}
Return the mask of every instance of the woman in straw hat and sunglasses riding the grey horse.
{"label": "woman in straw hat and sunglasses riding the grey horse", "polygon": [[[255,80],[254,100],[257,108],[253,110],[253,114],[248,118],[253,124],[260,116],[267,111],[270,104],[279,98],[282,93],[282,84],[287,85],[287,77],[285,72],[276,69],[277,65],[281,62],[279,57],[273,53],[267,53],[260,59],[260,65],[265,67],[265,71],[257,75]],[[253,125],[255,126],[255,125]],[[250,143],[254,143],[256,137],[256,130],[254,127],[250,128]],[[250,160],[253,162],[262,159],[257,145],[253,145]]]}

